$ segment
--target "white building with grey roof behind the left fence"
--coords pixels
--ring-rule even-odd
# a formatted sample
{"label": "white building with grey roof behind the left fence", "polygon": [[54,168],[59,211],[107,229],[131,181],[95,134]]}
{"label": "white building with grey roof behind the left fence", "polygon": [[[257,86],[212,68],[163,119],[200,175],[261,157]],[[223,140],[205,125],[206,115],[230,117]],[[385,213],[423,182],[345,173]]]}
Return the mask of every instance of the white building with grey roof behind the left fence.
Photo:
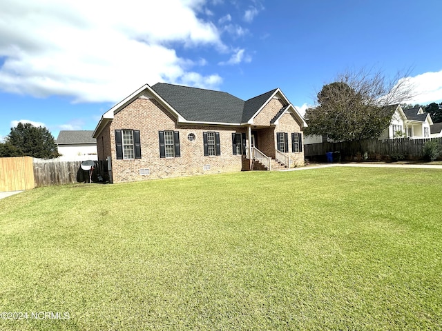
{"label": "white building with grey roof behind the left fence", "polygon": [[60,161],[97,161],[97,139],[93,130],[61,130],[57,140]]}

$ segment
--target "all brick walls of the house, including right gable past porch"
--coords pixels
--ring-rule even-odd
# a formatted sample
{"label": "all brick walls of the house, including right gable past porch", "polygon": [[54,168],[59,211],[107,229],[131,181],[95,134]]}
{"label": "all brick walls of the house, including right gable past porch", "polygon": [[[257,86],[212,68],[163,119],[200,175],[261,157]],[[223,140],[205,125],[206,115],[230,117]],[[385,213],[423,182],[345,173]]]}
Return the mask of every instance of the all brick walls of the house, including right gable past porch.
{"label": "all brick walls of the house, including right gable past porch", "polygon": [[[300,122],[293,114],[284,114],[280,117],[277,126],[270,126],[270,121],[282,108],[278,99],[272,99],[256,116],[254,124],[256,131],[257,148],[275,157],[276,132],[289,133],[289,150],[291,151],[291,132],[301,132]],[[122,160],[116,158],[115,130],[140,130],[141,159]],[[161,158],[158,131],[174,130],[180,132],[181,157]],[[220,133],[221,155],[204,157],[203,132],[214,131]],[[97,137],[97,151],[100,160],[111,156],[113,181],[142,181],[165,177],[189,176],[193,174],[210,174],[218,172],[236,172],[249,170],[249,161],[241,155],[232,153],[233,132],[247,132],[247,128],[231,128],[228,126],[197,126],[177,124],[174,115],[169,113],[155,99],[141,97],[117,112]],[[188,134],[195,134],[195,140],[189,141]],[[287,153],[301,165],[304,162],[304,153]],[[210,165],[209,170],[203,170],[204,165]],[[140,174],[140,169],[148,169],[150,174]]]}

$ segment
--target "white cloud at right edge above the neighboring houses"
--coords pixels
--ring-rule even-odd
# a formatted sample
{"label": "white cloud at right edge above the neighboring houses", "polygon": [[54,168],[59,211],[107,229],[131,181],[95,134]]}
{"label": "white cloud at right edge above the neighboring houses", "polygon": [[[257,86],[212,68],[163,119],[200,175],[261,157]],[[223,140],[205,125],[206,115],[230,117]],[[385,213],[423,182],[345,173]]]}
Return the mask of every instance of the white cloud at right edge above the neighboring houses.
{"label": "white cloud at right edge above the neighboring houses", "polygon": [[439,72],[425,72],[415,77],[408,77],[408,79],[414,86],[416,95],[405,103],[426,105],[442,101],[442,70]]}

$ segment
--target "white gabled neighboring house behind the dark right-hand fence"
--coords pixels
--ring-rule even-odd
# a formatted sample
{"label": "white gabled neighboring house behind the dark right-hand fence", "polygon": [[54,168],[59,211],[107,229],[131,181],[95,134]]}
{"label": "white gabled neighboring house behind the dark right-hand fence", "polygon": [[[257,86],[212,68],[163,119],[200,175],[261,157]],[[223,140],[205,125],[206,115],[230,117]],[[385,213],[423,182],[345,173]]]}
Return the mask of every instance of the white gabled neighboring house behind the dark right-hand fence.
{"label": "white gabled neighboring house behind the dark right-hand fence", "polygon": [[433,121],[430,114],[424,112],[421,107],[403,110],[401,105],[396,106],[390,126],[378,139],[430,138],[430,128]]}

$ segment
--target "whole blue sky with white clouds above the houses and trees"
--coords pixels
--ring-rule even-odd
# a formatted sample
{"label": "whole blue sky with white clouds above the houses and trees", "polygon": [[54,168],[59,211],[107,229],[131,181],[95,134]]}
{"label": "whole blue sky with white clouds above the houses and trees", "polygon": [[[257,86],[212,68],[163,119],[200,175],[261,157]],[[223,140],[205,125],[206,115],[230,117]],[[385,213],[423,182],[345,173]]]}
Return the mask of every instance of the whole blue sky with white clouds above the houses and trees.
{"label": "whole blue sky with white clouds above the houses and trees", "polygon": [[303,113],[340,72],[409,70],[407,102],[442,101],[439,0],[3,0],[0,12],[0,139],[18,121],[55,138],[94,130],[159,81],[241,99],[280,88]]}

